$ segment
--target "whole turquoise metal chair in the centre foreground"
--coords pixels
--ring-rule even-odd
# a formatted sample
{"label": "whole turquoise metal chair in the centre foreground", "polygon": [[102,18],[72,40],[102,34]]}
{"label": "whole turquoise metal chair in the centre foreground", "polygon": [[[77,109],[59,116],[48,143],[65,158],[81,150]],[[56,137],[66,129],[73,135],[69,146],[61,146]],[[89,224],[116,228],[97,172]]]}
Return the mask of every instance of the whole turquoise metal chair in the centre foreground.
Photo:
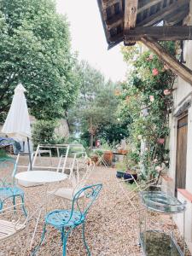
{"label": "whole turquoise metal chair in the centre foreground", "polygon": [[61,232],[63,256],[66,255],[68,236],[70,235],[72,230],[82,224],[82,236],[84,240],[84,246],[87,250],[88,255],[90,255],[90,249],[85,241],[84,236],[84,224],[87,212],[89,211],[90,206],[96,200],[96,197],[99,195],[101,189],[102,184],[95,184],[84,187],[73,196],[72,208],[70,210],[55,210],[45,215],[45,224],[41,241],[38,246],[35,247],[34,251],[32,252],[32,256],[36,255],[39,247],[42,245],[46,233],[46,226],[48,224],[54,226],[55,229]]}

